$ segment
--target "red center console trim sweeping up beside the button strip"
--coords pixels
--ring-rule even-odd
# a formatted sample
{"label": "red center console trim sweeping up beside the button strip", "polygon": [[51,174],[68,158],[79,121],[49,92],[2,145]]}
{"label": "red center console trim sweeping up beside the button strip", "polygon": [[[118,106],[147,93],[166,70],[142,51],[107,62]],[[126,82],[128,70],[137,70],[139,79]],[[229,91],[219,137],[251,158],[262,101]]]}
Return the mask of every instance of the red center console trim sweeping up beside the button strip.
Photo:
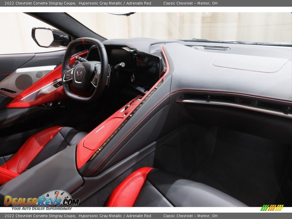
{"label": "red center console trim sweeping up beside the button strip", "polygon": [[[107,120],[101,123],[98,127],[92,130],[88,135],[86,135],[77,145],[77,153],[76,153],[76,163],[77,168],[80,169],[89,159],[94,158],[101,149],[110,141],[111,137],[113,137],[116,132],[119,131],[120,126],[128,120],[128,116],[130,115],[134,109],[151,93],[156,90],[156,86],[162,82],[165,75],[169,72],[169,62],[161,46],[162,54],[165,58],[166,62],[166,72],[165,74],[155,83],[155,85],[143,96],[138,96],[134,100],[130,101],[126,106],[123,112],[121,112],[126,106],[123,106],[122,109],[118,110],[112,116],[110,116]],[[139,98],[140,97],[140,98]],[[139,100],[137,100],[139,98]],[[130,106],[129,106],[130,105]],[[127,119],[127,120],[126,120]],[[125,121],[126,120],[126,121]]]}

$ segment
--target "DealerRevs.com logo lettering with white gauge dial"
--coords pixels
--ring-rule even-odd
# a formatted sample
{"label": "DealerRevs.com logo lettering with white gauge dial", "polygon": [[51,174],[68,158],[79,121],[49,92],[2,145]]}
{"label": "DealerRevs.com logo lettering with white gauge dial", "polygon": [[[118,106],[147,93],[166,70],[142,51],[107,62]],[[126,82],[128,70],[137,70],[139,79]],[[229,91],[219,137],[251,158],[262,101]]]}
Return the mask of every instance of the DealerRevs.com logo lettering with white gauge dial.
{"label": "DealerRevs.com logo lettering with white gauge dial", "polygon": [[9,195],[4,197],[5,206],[78,206],[79,199],[72,199],[70,194],[63,190],[53,190],[38,198],[17,198]]}

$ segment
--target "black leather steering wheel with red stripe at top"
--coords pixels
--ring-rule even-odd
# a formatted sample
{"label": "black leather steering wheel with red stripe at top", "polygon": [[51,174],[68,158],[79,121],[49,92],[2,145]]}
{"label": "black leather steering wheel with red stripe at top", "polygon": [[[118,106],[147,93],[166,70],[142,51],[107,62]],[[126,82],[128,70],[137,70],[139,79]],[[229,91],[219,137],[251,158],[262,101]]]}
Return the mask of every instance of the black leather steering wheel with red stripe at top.
{"label": "black leather steering wheel with red stripe at top", "polygon": [[[74,68],[70,68],[72,53],[75,47],[80,44],[95,45],[99,53],[100,62],[85,61],[76,64]],[[69,43],[62,64],[62,85],[68,97],[82,102],[91,102],[102,94],[108,77],[109,64],[106,49],[101,41],[85,37],[72,40]],[[73,87],[77,90],[89,90],[93,86],[94,91],[89,97],[76,95],[71,91],[71,83],[73,83]]]}

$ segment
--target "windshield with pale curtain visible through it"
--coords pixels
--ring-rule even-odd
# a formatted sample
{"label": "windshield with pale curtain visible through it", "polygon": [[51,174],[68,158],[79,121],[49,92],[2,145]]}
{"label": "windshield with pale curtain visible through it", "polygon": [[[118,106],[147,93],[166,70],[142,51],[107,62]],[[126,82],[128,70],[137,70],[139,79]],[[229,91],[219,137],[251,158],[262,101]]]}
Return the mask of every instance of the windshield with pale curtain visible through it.
{"label": "windshield with pale curtain visible through it", "polygon": [[290,12],[137,12],[130,16],[101,12],[68,14],[107,39],[148,37],[167,40],[292,41]]}

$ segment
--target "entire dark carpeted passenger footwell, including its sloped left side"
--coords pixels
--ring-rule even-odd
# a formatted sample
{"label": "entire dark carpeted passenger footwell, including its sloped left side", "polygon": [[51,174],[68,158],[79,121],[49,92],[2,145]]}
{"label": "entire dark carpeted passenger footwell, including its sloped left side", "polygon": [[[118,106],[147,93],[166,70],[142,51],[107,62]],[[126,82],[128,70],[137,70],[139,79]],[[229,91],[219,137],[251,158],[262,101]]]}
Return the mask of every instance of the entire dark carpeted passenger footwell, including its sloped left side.
{"label": "entire dark carpeted passenger footwell, including its sloped left side", "polygon": [[286,203],[287,190],[280,188],[289,169],[287,151],[287,145],[266,138],[186,124],[157,141],[154,167],[261,207]]}

